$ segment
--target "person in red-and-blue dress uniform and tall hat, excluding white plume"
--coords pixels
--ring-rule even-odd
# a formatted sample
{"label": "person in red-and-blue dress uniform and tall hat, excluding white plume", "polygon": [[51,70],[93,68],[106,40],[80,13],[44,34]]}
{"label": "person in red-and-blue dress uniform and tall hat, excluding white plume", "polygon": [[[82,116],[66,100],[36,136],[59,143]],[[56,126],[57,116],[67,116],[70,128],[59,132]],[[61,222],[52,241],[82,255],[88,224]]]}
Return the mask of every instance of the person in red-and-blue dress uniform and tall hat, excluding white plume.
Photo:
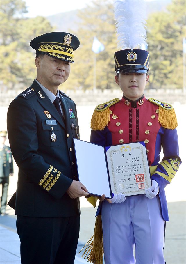
{"label": "person in red-and-blue dress uniform and tall hat, excluding white plume", "polygon": [[123,96],[96,107],[91,142],[111,146],[144,141],[152,187],[137,196],[115,194],[111,203],[100,198],[97,215],[102,219],[105,264],[135,263],[134,245],[136,263],[163,264],[164,230],[169,221],[164,188],[181,163],[176,115],[170,104],[144,96],[149,52],[123,49],[114,58],[115,81]]}

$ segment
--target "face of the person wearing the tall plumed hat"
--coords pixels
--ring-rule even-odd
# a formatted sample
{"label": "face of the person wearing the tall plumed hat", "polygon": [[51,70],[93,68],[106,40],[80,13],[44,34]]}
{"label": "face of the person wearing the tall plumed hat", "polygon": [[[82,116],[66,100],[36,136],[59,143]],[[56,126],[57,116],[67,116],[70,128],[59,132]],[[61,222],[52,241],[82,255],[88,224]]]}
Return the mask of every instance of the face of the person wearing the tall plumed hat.
{"label": "face of the person wearing the tall plumed hat", "polygon": [[142,97],[149,75],[145,73],[119,73],[115,76],[116,83],[120,86],[124,96],[135,101]]}

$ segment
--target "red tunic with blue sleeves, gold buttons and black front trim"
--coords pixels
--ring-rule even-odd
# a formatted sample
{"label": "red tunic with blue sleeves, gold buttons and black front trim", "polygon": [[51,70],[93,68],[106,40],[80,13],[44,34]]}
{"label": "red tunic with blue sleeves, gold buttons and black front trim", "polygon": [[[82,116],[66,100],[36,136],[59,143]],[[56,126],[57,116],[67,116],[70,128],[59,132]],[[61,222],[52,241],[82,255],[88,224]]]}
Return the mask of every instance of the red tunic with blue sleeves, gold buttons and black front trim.
{"label": "red tunic with blue sleeves, gold buttons and black front trim", "polygon": [[[138,141],[146,143],[149,166],[157,166],[151,178],[158,182],[162,217],[168,221],[164,187],[171,182],[181,163],[176,128],[162,127],[158,121],[159,106],[146,100],[144,95],[135,102],[123,96],[109,109],[109,124],[103,130],[92,130],[91,142],[101,146]],[[159,163],[162,148],[164,158]]]}

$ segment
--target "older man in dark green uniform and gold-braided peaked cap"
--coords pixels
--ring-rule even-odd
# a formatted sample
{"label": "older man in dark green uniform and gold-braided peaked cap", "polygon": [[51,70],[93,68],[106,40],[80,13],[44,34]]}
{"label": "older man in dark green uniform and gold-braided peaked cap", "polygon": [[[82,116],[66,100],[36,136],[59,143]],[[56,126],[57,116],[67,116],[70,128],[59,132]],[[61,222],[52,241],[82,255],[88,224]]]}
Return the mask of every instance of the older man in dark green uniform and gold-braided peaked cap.
{"label": "older man in dark green uniform and gold-braided peaked cap", "polygon": [[72,264],[79,236],[80,196],[73,137],[79,138],[75,103],[58,90],[69,77],[76,36],[52,32],[34,38],[37,77],[10,104],[12,155],[19,167],[9,205],[17,215],[24,264]]}

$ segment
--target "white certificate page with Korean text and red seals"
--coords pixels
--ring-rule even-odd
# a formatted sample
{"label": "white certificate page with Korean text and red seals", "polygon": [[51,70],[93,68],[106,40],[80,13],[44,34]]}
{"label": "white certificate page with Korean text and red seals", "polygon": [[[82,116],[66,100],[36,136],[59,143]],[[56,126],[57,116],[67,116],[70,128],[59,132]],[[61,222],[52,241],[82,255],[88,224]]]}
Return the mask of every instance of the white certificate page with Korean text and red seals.
{"label": "white certificate page with Korean text and red seals", "polygon": [[125,196],[144,194],[151,176],[145,143],[105,147],[112,192]]}

